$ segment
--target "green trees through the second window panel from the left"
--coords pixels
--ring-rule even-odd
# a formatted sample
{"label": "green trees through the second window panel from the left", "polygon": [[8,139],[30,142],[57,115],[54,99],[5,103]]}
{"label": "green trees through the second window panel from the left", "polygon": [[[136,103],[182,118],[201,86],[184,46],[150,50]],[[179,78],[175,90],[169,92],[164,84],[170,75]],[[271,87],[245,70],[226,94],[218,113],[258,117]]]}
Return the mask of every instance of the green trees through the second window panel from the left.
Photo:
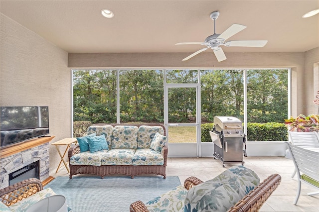
{"label": "green trees through the second window panel from the left", "polygon": [[121,122],[163,122],[163,105],[161,70],[120,72]]}

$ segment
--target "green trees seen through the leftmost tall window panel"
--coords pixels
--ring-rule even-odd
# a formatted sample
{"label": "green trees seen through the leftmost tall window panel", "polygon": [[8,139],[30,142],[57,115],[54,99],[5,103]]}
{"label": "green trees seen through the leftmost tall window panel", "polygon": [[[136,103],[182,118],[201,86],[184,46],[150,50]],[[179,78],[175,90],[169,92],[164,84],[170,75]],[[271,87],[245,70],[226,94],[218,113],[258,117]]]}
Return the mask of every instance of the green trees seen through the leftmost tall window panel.
{"label": "green trees seen through the leftmost tall window panel", "polygon": [[116,122],[116,71],[77,70],[73,84],[74,121]]}

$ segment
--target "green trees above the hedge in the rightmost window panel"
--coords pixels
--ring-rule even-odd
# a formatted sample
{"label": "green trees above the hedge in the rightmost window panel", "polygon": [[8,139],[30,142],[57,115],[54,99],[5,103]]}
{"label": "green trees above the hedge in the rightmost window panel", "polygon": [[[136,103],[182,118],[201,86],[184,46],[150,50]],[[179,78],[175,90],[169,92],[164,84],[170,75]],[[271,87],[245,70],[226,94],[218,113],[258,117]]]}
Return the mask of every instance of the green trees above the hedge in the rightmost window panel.
{"label": "green trees above the hedge in the rightmost window panel", "polygon": [[283,122],[288,116],[288,71],[247,71],[248,122]]}

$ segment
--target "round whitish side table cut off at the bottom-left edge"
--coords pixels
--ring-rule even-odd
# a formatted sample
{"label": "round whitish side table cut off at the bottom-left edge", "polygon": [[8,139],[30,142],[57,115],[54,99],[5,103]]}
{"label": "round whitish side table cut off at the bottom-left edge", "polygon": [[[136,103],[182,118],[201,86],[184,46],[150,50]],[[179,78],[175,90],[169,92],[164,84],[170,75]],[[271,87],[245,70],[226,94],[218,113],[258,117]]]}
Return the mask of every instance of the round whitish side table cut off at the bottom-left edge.
{"label": "round whitish side table cut off at the bottom-left edge", "polygon": [[68,212],[68,207],[64,196],[52,195],[36,202],[26,212]]}

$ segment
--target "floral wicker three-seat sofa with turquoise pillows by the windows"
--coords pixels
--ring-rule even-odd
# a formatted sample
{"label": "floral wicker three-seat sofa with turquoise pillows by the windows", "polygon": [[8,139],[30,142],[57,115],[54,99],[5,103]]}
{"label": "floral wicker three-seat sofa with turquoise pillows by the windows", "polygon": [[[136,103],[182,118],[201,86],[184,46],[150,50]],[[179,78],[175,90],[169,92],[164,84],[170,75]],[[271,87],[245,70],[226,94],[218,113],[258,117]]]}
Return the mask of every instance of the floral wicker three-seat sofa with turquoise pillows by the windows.
{"label": "floral wicker three-seat sofa with turquoise pillows by the windows", "polygon": [[156,174],[166,178],[167,144],[162,124],[95,124],[68,152],[70,179],[94,174]]}

